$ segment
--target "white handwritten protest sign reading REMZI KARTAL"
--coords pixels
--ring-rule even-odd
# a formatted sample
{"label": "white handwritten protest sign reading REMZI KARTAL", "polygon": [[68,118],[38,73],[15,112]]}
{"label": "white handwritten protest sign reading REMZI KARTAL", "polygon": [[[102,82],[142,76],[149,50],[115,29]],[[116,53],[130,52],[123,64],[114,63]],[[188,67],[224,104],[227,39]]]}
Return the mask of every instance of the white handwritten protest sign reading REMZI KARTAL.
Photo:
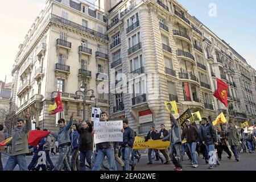
{"label": "white handwritten protest sign reading REMZI KARTAL", "polygon": [[122,142],[123,121],[100,121],[94,122],[94,142]]}

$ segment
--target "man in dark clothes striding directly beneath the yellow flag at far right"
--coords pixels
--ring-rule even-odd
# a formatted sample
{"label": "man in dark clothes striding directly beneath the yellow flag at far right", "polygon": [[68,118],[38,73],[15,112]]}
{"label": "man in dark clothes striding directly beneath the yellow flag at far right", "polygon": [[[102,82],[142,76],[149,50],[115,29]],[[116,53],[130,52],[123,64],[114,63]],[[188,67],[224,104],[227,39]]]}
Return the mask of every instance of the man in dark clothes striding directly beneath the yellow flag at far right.
{"label": "man in dark clothes striding directly beneath the yellow flag at far right", "polygon": [[224,131],[221,131],[221,127],[217,126],[217,135],[218,135],[218,145],[216,146],[217,148],[217,153],[218,153],[218,160],[221,161],[221,155],[223,150],[226,152],[226,154],[228,154],[228,159],[231,159],[231,152],[229,151],[228,148],[228,142],[227,139],[228,137],[225,136]]}

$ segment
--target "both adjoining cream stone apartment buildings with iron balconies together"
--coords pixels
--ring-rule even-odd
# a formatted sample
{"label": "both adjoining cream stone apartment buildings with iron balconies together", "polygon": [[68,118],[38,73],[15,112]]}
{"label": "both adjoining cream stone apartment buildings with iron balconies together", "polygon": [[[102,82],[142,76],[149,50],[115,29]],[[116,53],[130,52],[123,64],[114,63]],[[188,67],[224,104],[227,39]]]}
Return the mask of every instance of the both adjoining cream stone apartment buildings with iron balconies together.
{"label": "both adjoining cream stone apartment buildings with iron balconies together", "polygon": [[[12,74],[17,114],[31,107],[36,126],[56,129],[49,115],[57,89],[65,117],[82,115],[81,82],[93,89],[87,115],[100,106],[127,118],[139,135],[170,129],[164,101],[213,121],[221,111],[236,125],[255,123],[255,70],[174,0],[49,0],[20,45]],[[90,6],[93,6],[90,7]],[[229,85],[229,108],[213,98],[216,78]]]}

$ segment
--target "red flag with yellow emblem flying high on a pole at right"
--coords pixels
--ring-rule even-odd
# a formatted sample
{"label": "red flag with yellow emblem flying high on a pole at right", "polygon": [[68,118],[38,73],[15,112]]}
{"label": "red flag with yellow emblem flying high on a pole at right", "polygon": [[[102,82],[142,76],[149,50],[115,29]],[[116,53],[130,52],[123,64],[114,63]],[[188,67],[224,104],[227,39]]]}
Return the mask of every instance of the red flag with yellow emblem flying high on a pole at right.
{"label": "red flag with yellow emblem flying high on a pole at right", "polygon": [[217,90],[213,93],[213,96],[221,101],[226,107],[228,107],[228,88],[222,80],[217,78]]}

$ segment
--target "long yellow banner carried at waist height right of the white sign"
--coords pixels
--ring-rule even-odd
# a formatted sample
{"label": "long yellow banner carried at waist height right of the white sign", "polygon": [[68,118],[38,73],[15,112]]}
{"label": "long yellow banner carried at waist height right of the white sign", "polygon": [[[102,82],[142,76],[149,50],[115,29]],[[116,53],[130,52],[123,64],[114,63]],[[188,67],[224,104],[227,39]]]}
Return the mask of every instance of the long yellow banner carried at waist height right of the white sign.
{"label": "long yellow banner carried at waist height right of the white sign", "polygon": [[149,139],[147,142],[145,142],[145,139],[141,137],[135,137],[135,140],[133,143],[133,149],[152,148],[152,149],[164,150],[168,147],[170,147],[170,141],[163,142],[162,140]]}

